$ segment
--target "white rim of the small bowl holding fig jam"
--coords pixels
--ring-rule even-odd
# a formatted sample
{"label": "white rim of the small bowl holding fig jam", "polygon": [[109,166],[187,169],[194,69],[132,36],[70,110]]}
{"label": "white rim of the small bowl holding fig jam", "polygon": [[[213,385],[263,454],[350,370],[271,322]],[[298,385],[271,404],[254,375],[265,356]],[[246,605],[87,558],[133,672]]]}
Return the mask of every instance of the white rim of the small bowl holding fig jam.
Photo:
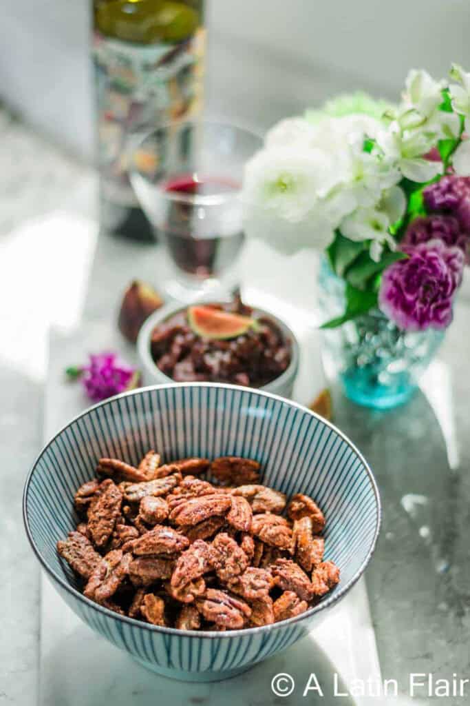
{"label": "white rim of the small bowl holding fig jam", "polygon": [[[220,297],[219,299],[214,299],[214,297],[208,297],[205,299],[202,299],[201,301],[198,302],[195,306],[204,306],[206,304],[226,304],[230,301],[230,299],[226,298],[224,299],[223,297]],[[151,357],[150,353],[150,337],[151,337],[151,332],[154,329],[158,323],[163,323],[163,321],[166,320],[166,318],[169,318],[170,316],[173,316],[176,313],[179,313],[180,311],[184,311],[185,309],[188,309],[192,304],[176,304],[173,302],[173,304],[170,302],[169,304],[165,304],[162,306],[160,309],[156,309],[156,311],[152,312],[150,316],[147,316],[145,319],[144,323],[140,327],[139,334],[137,335],[137,354],[139,356],[139,359],[142,363],[142,366],[144,367],[145,373],[154,376],[156,378],[161,378],[162,381],[166,381],[165,383],[152,383],[154,385],[163,385],[163,384],[168,384],[171,383],[172,385],[178,385],[178,384],[190,384],[190,381],[187,381],[187,383],[178,383],[177,381],[173,380],[170,376],[166,375],[166,373],[162,373],[162,371],[156,366],[156,363],[154,359]],[[274,323],[278,326],[280,331],[283,333],[283,335],[287,335],[290,337],[290,342],[291,342],[291,354],[290,354],[290,363],[281,373],[277,378],[273,378],[270,382],[266,383],[266,385],[263,385],[261,388],[249,388],[250,390],[256,390],[256,391],[261,391],[261,392],[267,392],[270,394],[277,394],[277,393],[271,393],[270,392],[270,387],[272,385],[276,385],[276,390],[279,388],[282,388],[283,385],[286,385],[287,383],[290,382],[291,378],[294,377],[297,373],[297,370],[299,369],[299,358],[300,358],[300,347],[299,347],[299,342],[297,340],[297,336],[295,333],[292,331],[292,328],[288,326],[283,319],[279,318],[276,316],[275,313],[270,311],[269,309],[264,309],[264,306],[252,306],[251,307],[255,312],[258,311],[261,313],[262,316],[268,316],[269,318],[272,318]],[[196,382],[196,381],[194,381]],[[233,386],[237,389],[242,389],[244,385],[235,385],[234,383],[211,383],[210,381],[202,381],[199,383],[201,385],[229,385]],[[248,389],[248,388],[247,388]]]}

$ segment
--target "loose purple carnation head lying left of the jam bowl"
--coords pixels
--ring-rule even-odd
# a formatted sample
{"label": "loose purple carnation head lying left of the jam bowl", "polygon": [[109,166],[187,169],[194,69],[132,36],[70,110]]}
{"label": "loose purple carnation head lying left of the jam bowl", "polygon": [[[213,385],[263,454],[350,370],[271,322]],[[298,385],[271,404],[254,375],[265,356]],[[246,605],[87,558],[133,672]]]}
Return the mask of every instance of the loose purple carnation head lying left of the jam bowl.
{"label": "loose purple carnation head lying left of the jam bowl", "polygon": [[89,364],[71,367],[67,371],[70,378],[80,377],[88,397],[93,402],[101,402],[108,397],[135,388],[140,381],[138,371],[116,353],[99,353],[89,356]]}

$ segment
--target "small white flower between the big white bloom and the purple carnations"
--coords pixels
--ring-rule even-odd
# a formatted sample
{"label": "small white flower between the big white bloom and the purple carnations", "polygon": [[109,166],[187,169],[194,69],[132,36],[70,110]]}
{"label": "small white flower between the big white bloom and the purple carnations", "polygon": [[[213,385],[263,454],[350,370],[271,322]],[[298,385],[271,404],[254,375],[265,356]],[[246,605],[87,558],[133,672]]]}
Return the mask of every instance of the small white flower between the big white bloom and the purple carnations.
{"label": "small white flower between the big white bloom and the purple carnations", "polygon": [[381,201],[373,208],[358,208],[347,216],[340,225],[342,234],[350,240],[371,241],[371,258],[378,262],[383,244],[395,249],[395,240],[388,232],[390,226],[400,220],[406,208],[406,198],[399,186],[385,191]]}

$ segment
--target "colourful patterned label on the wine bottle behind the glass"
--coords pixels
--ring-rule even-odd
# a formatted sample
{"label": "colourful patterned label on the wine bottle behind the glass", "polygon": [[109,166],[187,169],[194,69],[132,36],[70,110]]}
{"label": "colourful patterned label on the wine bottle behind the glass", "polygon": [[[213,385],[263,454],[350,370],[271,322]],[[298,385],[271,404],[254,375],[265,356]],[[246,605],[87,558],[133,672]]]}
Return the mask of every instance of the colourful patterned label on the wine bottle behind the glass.
{"label": "colourful patterned label on the wine bottle behind the glass", "polygon": [[132,44],[94,32],[98,165],[113,203],[137,205],[128,177],[132,142],[156,124],[196,113],[202,100],[205,30],[180,44]]}

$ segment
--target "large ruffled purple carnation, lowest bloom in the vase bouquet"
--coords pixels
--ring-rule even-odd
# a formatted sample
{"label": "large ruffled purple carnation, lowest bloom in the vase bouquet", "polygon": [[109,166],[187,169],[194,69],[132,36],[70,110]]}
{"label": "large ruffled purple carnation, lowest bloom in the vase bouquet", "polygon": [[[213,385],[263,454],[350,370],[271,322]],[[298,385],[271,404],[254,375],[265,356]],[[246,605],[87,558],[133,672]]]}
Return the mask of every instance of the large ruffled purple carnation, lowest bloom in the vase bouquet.
{"label": "large ruffled purple carnation, lowest bloom in the vase bouquet", "polygon": [[379,306],[399,328],[443,329],[452,321],[452,297],[462,282],[464,254],[443,241],[405,247],[409,255],[385,270]]}

